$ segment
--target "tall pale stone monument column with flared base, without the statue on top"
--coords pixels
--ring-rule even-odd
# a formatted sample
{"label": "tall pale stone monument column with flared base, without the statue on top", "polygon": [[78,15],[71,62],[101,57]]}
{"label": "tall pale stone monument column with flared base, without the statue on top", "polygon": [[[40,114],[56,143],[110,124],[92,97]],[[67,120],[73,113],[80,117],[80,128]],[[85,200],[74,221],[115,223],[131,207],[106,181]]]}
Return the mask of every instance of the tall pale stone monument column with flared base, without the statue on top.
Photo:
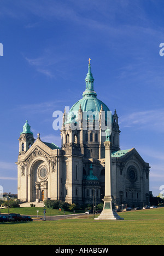
{"label": "tall pale stone monument column with flared base, without the statue on top", "polygon": [[119,220],[121,218],[115,211],[112,196],[112,160],[111,160],[111,143],[109,140],[104,142],[106,149],[106,167],[105,167],[105,196],[103,198],[104,207],[102,213],[95,220]]}

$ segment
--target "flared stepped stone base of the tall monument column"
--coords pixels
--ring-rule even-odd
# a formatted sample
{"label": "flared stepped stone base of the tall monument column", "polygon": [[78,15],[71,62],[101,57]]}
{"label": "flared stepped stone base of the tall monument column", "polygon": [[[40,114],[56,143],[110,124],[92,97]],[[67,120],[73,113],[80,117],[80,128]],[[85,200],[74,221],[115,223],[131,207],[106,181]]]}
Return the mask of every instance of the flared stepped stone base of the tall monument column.
{"label": "flared stepped stone base of the tall monument column", "polygon": [[104,196],[103,201],[103,211],[95,220],[124,220],[116,213],[112,196]]}

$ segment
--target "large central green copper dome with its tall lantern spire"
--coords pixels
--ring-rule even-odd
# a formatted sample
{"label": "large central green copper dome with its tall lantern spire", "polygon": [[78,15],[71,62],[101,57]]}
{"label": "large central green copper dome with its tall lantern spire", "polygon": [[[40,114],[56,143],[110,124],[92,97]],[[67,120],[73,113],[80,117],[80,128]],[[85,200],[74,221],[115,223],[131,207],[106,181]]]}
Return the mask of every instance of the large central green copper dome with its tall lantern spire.
{"label": "large central green copper dome with its tall lantern spire", "polygon": [[[83,93],[83,98],[78,100],[77,103],[75,103],[71,109],[69,110],[68,113],[68,120],[66,123],[71,123],[72,119],[77,116],[79,109],[81,109],[83,112],[84,111],[97,111],[97,115],[95,115],[95,120],[98,120],[99,118],[99,111],[104,110],[106,112],[107,116],[107,111],[109,111],[108,107],[106,104],[104,104],[101,100],[97,99],[97,94],[95,90],[93,89],[93,82],[94,78],[92,76],[91,72],[91,65],[89,63],[88,67],[88,73],[85,78],[85,83],[86,83],[86,89]],[[93,113],[94,115],[94,113]]]}

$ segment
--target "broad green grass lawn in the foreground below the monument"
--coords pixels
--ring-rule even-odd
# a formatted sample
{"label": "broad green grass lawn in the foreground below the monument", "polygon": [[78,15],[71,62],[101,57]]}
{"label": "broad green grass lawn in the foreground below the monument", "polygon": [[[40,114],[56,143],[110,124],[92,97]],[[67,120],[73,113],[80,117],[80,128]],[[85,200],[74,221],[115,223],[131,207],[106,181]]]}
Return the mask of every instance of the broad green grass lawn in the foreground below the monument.
{"label": "broad green grass lawn in the foreground below the monument", "polygon": [[84,219],[1,223],[0,244],[164,244],[164,208],[119,213],[124,220]]}

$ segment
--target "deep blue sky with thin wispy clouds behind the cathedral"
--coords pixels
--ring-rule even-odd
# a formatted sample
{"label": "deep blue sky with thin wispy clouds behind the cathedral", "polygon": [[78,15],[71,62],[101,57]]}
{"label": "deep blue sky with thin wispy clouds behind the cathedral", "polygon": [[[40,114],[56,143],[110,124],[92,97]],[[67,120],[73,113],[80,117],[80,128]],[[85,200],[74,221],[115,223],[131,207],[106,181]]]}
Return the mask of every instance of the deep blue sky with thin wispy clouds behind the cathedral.
{"label": "deep blue sky with thin wispy clouds behind the cathedral", "polygon": [[121,149],[149,162],[150,190],[164,185],[162,0],[1,0],[0,185],[17,192],[25,121],[60,146],[56,110],[82,98],[88,59],[97,98],[117,110]]}

